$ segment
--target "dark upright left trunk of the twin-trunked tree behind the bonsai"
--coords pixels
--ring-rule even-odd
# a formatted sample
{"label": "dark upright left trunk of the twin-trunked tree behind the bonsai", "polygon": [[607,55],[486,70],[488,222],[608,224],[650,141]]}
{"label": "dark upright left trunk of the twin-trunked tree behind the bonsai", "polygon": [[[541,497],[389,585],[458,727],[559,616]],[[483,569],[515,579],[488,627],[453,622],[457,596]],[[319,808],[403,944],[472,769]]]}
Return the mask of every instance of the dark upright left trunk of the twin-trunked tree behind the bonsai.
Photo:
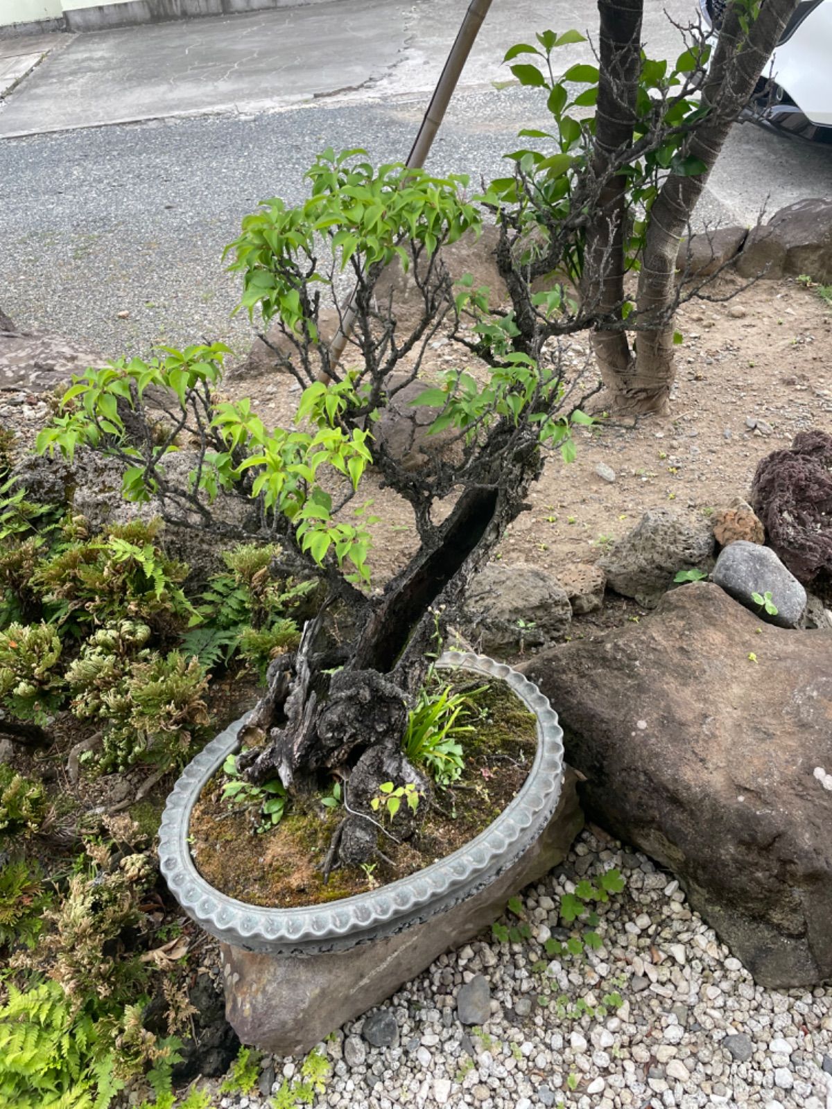
{"label": "dark upright left trunk of the twin-trunked tree behind the bonsai", "polygon": [[[592,174],[602,177],[612,155],[632,142],[641,67],[643,0],[598,0],[600,67]],[[582,298],[603,315],[618,315],[625,299],[627,177],[611,177],[598,199],[598,218],[587,231]],[[607,387],[615,395],[631,355],[623,330],[598,328],[592,346]]]}

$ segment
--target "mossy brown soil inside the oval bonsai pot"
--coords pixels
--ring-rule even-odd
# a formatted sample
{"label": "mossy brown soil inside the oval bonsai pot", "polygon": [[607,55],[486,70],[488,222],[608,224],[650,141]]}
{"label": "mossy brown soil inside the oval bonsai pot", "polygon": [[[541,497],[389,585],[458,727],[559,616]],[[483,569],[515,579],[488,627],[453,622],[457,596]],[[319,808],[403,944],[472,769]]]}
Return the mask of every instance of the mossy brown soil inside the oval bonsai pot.
{"label": "mossy brown soil inside the oval bonsai pot", "polygon": [[[451,684],[464,691],[471,682],[459,675]],[[325,808],[319,796],[297,798],[275,828],[258,832],[255,813],[223,801],[227,780],[217,772],[191,815],[191,853],[200,873],[231,897],[290,908],[366,893],[453,854],[506,808],[526,781],[537,747],[534,714],[504,682],[489,683],[477,695],[476,709],[478,715],[468,721],[476,731],[460,737],[465,751],[461,777],[447,788],[437,787],[432,800],[419,802],[429,808],[413,840],[395,842],[400,821],[378,815],[390,835],[379,831],[379,854],[369,871],[344,867],[324,883],[323,862],[345,815],[343,808]]]}

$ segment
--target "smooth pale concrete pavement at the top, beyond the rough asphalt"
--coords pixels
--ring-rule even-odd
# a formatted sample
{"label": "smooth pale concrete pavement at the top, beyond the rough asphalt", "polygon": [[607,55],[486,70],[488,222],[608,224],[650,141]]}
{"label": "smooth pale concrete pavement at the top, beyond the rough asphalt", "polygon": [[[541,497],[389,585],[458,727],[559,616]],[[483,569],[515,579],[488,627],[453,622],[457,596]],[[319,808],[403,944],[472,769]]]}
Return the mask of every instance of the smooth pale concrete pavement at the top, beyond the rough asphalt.
{"label": "smooth pale concrete pavement at the top, beyond the rough asphalt", "polygon": [[[467,0],[334,0],[311,7],[146,24],[75,35],[6,102],[0,135],[214,112],[281,110],[318,100],[388,100],[433,89]],[[652,3],[646,38],[676,57],[689,0]],[[595,28],[593,0],[495,0],[460,82],[489,88],[510,73],[504,53],[550,26]],[[590,61],[589,44],[561,48],[561,72]]]}

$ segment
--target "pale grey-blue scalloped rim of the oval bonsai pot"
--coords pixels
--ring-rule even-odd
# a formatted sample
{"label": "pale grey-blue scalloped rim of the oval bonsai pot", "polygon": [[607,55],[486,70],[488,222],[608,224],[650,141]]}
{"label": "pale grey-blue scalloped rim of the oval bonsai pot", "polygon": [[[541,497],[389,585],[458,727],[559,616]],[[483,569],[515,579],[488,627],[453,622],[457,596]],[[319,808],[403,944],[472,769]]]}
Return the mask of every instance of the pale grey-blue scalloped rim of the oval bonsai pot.
{"label": "pale grey-blue scalloped rim of the oval bonsai pot", "polygon": [[537,719],[537,752],[526,781],[500,815],[451,855],[386,886],[322,905],[266,908],[220,893],[196,869],[191,811],[203,786],[237,746],[245,716],[189,763],[168,798],[159,832],[160,867],[173,896],[206,932],[235,947],[274,955],[344,950],[404,930],[489,885],[548,824],[564,777],[562,730],[548,700],[524,674],[485,655],[446,651],[436,663],[505,681]]}

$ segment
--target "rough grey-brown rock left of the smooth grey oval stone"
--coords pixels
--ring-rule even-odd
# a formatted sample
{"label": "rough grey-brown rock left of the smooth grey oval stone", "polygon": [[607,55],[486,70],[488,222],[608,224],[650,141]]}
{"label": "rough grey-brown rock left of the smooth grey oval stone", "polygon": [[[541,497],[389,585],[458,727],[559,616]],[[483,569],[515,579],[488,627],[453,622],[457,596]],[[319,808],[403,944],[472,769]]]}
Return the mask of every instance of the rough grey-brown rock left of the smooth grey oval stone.
{"label": "rough grey-brown rock left of the smooth grey oval stone", "polygon": [[704,517],[658,508],[645,512],[598,564],[610,589],[655,608],[678,570],[710,569],[712,554],[713,533]]}

